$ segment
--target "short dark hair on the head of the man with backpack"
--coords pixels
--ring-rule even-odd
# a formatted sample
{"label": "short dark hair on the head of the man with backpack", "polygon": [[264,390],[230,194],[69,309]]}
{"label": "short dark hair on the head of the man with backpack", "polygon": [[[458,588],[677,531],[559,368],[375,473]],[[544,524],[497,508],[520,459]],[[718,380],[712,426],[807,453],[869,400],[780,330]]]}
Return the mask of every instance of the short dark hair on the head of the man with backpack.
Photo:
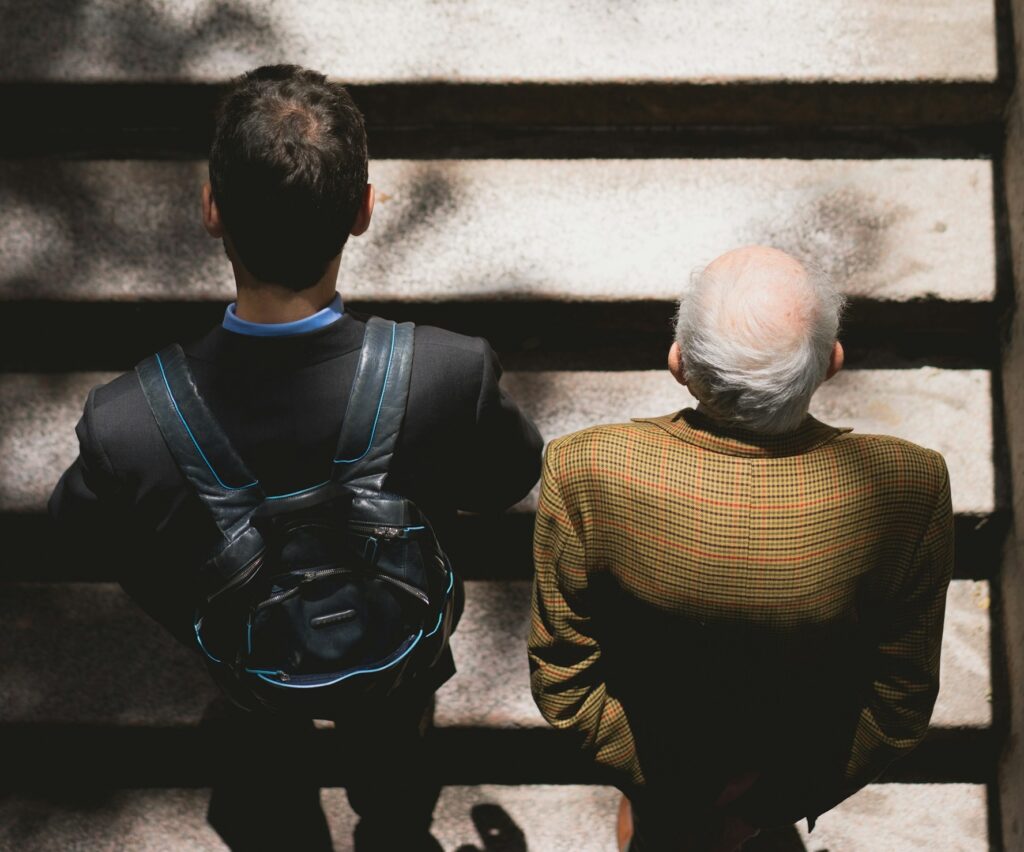
{"label": "short dark hair on the head of the man with backpack", "polygon": [[298,66],[236,80],[217,111],[210,184],[259,281],[311,287],[342,250],[367,187],[362,115],[338,83]]}

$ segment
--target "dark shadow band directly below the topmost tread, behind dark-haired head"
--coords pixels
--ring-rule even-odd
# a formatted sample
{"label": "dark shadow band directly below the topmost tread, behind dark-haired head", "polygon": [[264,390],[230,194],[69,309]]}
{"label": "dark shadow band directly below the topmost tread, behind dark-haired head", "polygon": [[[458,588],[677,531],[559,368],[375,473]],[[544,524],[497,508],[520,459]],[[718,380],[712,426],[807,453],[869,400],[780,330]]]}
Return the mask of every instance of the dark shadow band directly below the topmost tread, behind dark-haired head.
{"label": "dark shadow band directly below the topmost tread, behind dark-haired head", "polygon": [[[938,82],[349,88],[373,155],[399,160],[988,157],[999,145],[1008,96],[998,84]],[[0,156],[203,157],[222,90],[219,81],[172,76],[3,83]]]}

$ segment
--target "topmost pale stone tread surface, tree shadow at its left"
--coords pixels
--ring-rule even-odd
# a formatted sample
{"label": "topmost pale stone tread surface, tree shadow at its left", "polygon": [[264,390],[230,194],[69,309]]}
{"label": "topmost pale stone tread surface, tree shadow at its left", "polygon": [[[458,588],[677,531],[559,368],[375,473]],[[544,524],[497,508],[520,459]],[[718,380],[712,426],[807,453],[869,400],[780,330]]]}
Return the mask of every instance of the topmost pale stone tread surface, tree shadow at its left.
{"label": "topmost pale stone tread surface, tree shadow at its left", "polygon": [[45,0],[0,4],[0,80],[210,81],[299,62],[350,82],[992,80],[982,0]]}

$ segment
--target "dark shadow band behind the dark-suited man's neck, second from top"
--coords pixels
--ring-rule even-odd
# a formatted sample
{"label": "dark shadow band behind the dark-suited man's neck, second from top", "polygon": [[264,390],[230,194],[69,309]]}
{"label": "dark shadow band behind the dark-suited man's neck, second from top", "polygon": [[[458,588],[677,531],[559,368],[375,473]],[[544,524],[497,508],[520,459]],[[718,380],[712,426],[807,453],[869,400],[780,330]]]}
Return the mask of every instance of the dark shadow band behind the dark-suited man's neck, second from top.
{"label": "dark shadow band behind the dark-suited man's neck, second from top", "polygon": [[[183,187],[183,203],[191,203],[193,189],[198,191],[199,184],[197,177],[195,186]],[[49,214],[44,211],[44,215]],[[158,227],[168,226],[173,232],[199,228],[190,215],[190,209],[183,211],[180,217],[168,218]],[[178,227],[180,231],[174,230]],[[129,236],[120,232],[117,239]],[[189,244],[191,248],[208,258],[211,268],[219,263],[215,256],[219,249],[213,241],[198,236],[197,242]],[[193,274],[180,257],[160,251],[163,253],[154,255],[156,265],[167,261],[162,265],[166,272],[161,274],[168,280],[179,273]],[[69,253],[67,262],[74,266],[78,254]],[[140,274],[144,272],[142,267],[135,268]],[[128,370],[168,342],[205,333],[224,312],[222,301],[203,299],[131,303],[20,299],[19,295],[31,292],[36,283],[32,275],[18,280],[9,273],[6,279],[0,276],[0,290],[15,296],[4,301],[0,311],[0,361],[9,371]],[[528,288],[530,282],[522,285]],[[611,304],[482,299],[346,302],[355,311],[484,337],[507,370],[525,371],[660,370],[672,341],[675,311],[673,303],[656,300]],[[843,329],[847,369],[991,368],[998,361],[992,334],[994,315],[992,305],[986,302],[853,299]],[[61,345],[53,346],[53,340]]]}

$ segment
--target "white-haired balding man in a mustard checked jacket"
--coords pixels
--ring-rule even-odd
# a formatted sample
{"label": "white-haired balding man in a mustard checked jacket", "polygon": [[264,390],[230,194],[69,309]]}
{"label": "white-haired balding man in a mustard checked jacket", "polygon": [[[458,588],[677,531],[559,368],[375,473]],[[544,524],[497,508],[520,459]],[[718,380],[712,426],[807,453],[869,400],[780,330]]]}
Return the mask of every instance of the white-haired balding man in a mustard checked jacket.
{"label": "white-haired balding man in a mustard checked jacket", "polygon": [[729,252],[691,280],[669,354],[696,410],[548,450],[534,694],[629,797],[631,850],[813,824],[928,728],[948,475],[807,413],[843,365],[842,307],[780,251]]}

